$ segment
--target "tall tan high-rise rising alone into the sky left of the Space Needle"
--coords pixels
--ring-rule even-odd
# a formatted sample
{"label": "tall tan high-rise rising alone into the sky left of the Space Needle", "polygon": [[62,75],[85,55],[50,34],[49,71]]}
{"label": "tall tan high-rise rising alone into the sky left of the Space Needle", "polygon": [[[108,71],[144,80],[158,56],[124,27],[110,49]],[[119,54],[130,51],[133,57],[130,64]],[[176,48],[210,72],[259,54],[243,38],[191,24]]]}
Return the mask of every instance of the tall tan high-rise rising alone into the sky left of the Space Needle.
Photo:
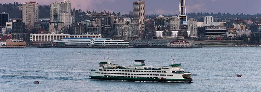
{"label": "tall tan high-rise rising alone into the sky left of the Space Needle", "polygon": [[133,3],[133,17],[141,19],[141,30],[140,30],[140,37],[145,31],[145,1],[135,1]]}

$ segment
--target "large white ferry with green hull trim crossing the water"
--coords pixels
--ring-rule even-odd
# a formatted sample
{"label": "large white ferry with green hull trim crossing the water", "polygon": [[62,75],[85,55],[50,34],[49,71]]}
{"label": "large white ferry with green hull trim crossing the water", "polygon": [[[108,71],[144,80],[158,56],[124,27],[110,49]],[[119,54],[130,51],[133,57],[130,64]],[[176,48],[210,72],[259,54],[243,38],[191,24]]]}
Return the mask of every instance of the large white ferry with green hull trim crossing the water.
{"label": "large white ferry with green hull trim crossing the water", "polygon": [[181,64],[171,64],[166,67],[145,65],[144,60],[135,60],[133,65],[119,66],[107,62],[100,62],[100,66],[91,70],[90,78],[104,80],[132,80],[132,81],[184,81],[191,82],[191,73],[185,72]]}

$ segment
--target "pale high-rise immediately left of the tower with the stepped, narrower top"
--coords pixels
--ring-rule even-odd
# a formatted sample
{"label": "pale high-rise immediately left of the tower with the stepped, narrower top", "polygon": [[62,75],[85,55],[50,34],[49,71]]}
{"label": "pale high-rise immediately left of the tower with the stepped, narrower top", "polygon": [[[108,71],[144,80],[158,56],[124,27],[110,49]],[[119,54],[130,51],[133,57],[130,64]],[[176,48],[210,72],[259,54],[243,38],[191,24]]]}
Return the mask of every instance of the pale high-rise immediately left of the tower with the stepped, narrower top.
{"label": "pale high-rise immediately left of the tower with the stepped, narrower top", "polygon": [[50,5],[50,19],[51,22],[58,22],[59,13],[62,13],[62,5],[55,2]]}

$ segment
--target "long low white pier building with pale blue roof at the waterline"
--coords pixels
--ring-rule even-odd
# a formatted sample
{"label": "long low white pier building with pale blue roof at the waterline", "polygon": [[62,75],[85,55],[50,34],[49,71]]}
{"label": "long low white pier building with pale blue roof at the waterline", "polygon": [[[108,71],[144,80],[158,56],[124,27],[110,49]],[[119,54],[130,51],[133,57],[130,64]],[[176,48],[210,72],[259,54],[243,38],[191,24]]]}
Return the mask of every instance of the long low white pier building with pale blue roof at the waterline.
{"label": "long low white pier building with pale blue roof at the waterline", "polygon": [[108,38],[63,38],[54,40],[55,43],[65,45],[88,45],[88,46],[129,46],[130,42],[124,40],[112,40]]}

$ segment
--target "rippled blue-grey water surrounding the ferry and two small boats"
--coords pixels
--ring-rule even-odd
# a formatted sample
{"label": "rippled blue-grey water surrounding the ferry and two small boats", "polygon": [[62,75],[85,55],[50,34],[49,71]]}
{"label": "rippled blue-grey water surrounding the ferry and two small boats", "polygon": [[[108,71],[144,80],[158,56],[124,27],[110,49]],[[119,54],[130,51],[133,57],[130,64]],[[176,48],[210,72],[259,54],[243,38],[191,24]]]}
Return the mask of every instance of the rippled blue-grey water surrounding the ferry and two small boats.
{"label": "rippled blue-grey water surrounding the ferry and two small boats", "polygon": [[[166,66],[171,56],[193,83],[93,80],[90,70],[113,64]],[[0,49],[0,91],[261,91],[261,48]],[[235,77],[242,74],[241,78]],[[33,84],[39,81],[39,85]]]}

